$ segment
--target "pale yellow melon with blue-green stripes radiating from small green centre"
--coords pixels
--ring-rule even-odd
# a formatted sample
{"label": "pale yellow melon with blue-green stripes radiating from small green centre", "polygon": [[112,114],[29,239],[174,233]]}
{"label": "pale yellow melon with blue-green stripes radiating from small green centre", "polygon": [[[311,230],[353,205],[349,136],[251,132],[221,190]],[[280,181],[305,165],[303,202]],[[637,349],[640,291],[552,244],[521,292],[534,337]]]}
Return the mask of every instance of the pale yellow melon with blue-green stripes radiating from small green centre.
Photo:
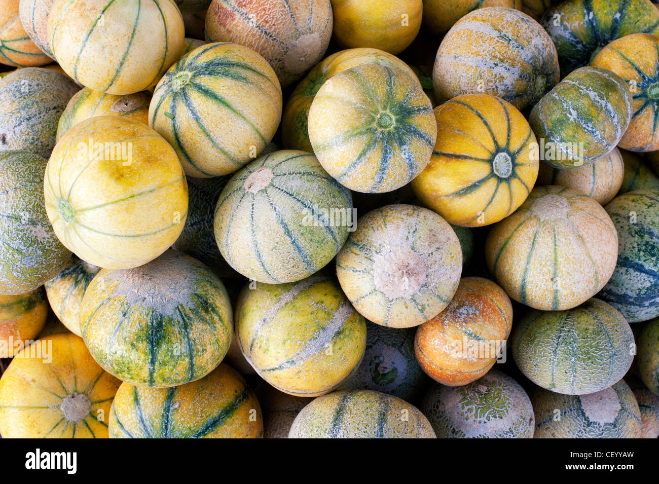
{"label": "pale yellow melon with blue-green stripes radiating from small green centre", "polygon": [[308,130],[329,175],[356,192],[382,193],[409,183],[426,167],[437,123],[428,96],[409,76],[360,65],[323,84]]}

